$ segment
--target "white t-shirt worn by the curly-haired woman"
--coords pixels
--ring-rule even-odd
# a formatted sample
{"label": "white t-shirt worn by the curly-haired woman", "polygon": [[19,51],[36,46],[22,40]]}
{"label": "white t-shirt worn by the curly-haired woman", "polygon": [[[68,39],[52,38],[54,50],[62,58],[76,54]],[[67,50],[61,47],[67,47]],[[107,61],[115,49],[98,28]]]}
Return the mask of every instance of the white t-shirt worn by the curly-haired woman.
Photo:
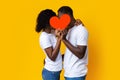
{"label": "white t-shirt worn by the curly-haired woman", "polygon": [[[56,45],[56,38],[55,38],[55,35],[53,34],[48,34],[46,32],[42,32],[41,35],[40,35],[40,46],[41,48],[43,49],[46,49],[48,47],[55,47]],[[60,54],[60,52],[58,53],[58,56],[56,58],[55,61],[52,61],[46,54],[46,52],[44,51],[45,55],[46,55],[46,58],[45,58],[45,66],[44,68],[49,70],[49,71],[60,71],[62,70],[62,56]]]}

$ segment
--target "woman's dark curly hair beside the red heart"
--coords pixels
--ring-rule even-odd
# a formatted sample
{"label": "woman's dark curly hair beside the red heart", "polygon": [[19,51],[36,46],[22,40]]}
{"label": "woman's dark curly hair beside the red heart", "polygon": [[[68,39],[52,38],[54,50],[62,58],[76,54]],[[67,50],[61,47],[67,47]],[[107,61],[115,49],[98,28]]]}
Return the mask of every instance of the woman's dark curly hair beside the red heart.
{"label": "woman's dark curly hair beside the red heart", "polygon": [[40,32],[41,30],[50,27],[49,20],[53,16],[56,16],[56,14],[50,9],[41,11],[37,17],[36,32]]}

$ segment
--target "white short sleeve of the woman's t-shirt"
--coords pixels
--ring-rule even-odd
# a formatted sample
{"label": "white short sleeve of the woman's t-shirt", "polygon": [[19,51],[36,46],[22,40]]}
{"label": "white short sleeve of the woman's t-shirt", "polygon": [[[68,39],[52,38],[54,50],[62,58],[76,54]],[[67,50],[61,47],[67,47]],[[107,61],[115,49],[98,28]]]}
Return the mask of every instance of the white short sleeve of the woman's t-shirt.
{"label": "white short sleeve of the woman's t-shirt", "polygon": [[41,37],[40,37],[40,46],[43,48],[43,49],[46,49],[46,48],[48,48],[48,47],[51,47],[52,46],[52,44],[51,44],[51,40],[50,40],[50,37],[47,35],[42,35]]}

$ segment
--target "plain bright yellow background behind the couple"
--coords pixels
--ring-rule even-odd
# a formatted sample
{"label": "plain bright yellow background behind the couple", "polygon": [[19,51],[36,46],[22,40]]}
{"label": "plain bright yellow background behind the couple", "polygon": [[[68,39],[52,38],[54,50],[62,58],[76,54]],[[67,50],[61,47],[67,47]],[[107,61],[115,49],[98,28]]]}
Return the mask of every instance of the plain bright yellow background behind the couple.
{"label": "plain bright yellow background behind the couple", "polygon": [[89,31],[87,80],[120,79],[119,0],[1,0],[0,80],[42,80],[45,56],[35,32],[36,18],[43,9],[57,13],[64,5]]}

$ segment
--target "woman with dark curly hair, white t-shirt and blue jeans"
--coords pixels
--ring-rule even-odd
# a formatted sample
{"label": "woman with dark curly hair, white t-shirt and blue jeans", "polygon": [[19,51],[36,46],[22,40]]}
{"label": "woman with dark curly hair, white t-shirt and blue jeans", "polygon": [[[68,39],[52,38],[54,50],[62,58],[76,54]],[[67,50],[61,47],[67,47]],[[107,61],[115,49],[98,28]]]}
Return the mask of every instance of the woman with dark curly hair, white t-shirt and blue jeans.
{"label": "woman with dark curly hair, white t-shirt and blue jeans", "polygon": [[46,54],[44,69],[42,70],[43,80],[60,80],[62,70],[62,56],[60,54],[61,37],[57,32],[57,39],[52,34],[52,27],[49,24],[51,17],[56,16],[55,12],[46,9],[40,12],[37,18],[36,31],[42,31],[40,45]]}

